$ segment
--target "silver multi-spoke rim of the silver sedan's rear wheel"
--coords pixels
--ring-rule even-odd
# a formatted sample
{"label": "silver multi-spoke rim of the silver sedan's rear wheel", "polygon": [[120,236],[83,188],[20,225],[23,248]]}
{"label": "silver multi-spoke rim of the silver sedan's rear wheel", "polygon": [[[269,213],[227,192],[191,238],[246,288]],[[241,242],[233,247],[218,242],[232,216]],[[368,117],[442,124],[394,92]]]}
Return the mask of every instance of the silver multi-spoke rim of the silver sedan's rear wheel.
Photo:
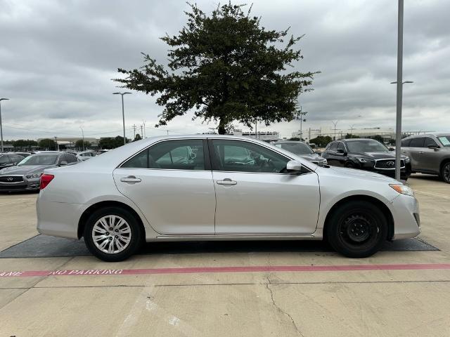
{"label": "silver multi-spoke rim of the silver sedan's rear wheel", "polygon": [[131,227],[120,216],[103,216],[92,228],[92,241],[103,253],[115,254],[124,251],[131,242]]}

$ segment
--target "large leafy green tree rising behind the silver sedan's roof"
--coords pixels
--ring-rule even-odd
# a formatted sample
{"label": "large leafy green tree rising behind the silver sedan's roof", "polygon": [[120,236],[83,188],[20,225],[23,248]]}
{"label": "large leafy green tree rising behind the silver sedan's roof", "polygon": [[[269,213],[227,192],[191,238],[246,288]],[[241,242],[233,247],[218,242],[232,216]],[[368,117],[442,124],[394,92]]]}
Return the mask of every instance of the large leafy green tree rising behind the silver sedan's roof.
{"label": "large leafy green tree rising behind the silver sedan's roof", "polygon": [[193,111],[194,118],[219,123],[218,131],[239,121],[269,125],[295,118],[297,96],[311,90],[315,72],[287,71],[301,60],[288,29],[268,30],[260,19],[231,2],[206,15],[197,5],[177,36],[162,37],[170,49],[167,70],[143,53],[144,65],[124,70],[122,87],[158,95],[164,108],[157,126]]}

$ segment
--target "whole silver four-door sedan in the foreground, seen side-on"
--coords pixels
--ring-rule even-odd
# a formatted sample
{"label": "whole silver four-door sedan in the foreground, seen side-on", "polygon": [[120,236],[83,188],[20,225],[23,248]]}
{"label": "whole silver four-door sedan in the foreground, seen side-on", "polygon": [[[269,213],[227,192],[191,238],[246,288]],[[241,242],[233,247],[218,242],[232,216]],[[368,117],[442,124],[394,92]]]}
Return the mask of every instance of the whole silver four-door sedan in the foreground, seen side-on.
{"label": "whole silver four-door sedan in the foreground, seen side-on", "polygon": [[397,180],[216,135],[146,138],[47,169],[37,218],[40,233],[84,237],[107,261],[143,242],[238,239],[326,238],[362,258],[420,232],[416,198]]}

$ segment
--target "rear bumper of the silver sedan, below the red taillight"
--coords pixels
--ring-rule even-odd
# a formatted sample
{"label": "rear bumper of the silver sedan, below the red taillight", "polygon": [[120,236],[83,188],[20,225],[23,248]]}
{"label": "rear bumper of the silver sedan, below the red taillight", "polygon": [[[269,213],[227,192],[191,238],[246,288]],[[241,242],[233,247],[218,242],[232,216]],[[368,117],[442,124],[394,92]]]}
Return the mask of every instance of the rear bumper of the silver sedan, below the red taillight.
{"label": "rear bumper of the silver sedan, below the red taillight", "polygon": [[78,222],[86,204],[42,201],[37,199],[37,231],[53,237],[78,239]]}

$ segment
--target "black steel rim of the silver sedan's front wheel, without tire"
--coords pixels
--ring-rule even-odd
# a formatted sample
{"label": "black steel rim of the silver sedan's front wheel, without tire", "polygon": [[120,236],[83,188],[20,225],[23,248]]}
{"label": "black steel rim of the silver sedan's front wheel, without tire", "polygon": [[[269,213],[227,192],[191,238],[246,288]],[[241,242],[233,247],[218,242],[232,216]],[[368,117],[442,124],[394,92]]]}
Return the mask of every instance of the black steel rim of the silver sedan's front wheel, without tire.
{"label": "black steel rim of the silver sedan's front wheel, without tire", "polygon": [[377,241],[379,232],[377,222],[368,214],[354,212],[340,221],[340,239],[354,248],[371,246]]}

